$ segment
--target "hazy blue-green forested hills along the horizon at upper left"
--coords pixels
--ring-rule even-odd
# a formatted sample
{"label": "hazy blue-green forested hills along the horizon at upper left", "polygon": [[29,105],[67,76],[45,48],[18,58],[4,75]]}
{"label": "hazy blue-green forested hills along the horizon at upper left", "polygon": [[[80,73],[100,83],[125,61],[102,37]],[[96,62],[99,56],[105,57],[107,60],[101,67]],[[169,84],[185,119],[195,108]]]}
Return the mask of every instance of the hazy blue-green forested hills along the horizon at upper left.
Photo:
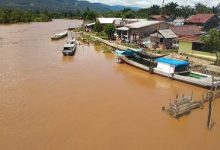
{"label": "hazy blue-green forested hills along the horizon at upper left", "polygon": [[[126,8],[125,6],[110,6],[102,3],[90,3],[78,0],[0,0],[0,7],[18,8],[28,10],[56,11],[83,11],[89,8],[96,12],[116,11]],[[134,8],[137,9],[137,8]]]}

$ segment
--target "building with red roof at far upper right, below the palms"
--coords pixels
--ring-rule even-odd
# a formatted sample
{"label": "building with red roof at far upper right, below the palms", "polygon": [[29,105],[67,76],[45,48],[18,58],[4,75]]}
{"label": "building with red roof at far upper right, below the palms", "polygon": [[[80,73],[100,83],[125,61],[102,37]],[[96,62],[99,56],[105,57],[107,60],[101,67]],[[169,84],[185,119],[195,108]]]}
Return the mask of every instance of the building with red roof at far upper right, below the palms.
{"label": "building with red roof at far upper right, below the palms", "polygon": [[208,31],[219,25],[220,19],[215,14],[196,14],[190,16],[185,21],[185,25],[197,25],[202,30]]}

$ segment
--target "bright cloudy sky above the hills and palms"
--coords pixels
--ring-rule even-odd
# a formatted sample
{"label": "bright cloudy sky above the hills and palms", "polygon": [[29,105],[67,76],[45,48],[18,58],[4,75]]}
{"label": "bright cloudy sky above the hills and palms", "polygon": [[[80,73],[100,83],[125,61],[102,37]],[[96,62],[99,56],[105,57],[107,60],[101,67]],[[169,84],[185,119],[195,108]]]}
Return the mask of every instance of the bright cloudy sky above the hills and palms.
{"label": "bright cloudy sky above the hills and palms", "polygon": [[[137,7],[149,7],[153,4],[161,5],[163,0],[88,0],[90,2],[99,2],[108,5],[123,5],[123,6],[137,6]],[[202,3],[207,6],[217,6],[220,0],[165,0],[165,4],[169,2],[177,2],[179,5],[191,5],[196,3]]]}

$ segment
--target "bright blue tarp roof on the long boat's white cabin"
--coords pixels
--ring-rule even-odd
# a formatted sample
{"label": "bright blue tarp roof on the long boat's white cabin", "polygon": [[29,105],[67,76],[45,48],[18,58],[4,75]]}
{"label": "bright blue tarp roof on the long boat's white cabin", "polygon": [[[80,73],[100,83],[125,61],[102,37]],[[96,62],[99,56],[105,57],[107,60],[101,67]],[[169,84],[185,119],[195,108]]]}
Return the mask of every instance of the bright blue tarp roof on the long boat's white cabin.
{"label": "bright blue tarp roof on the long boat's white cabin", "polygon": [[162,62],[165,64],[169,64],[172,66],[187,66],[189,65],[188,61],[183,61],[183,60],[177,60],[177,59],[172,59],[172,58],[167,58],[167,57],[162,57],[162,58],[158,58],[156,59],[157,62]]}

